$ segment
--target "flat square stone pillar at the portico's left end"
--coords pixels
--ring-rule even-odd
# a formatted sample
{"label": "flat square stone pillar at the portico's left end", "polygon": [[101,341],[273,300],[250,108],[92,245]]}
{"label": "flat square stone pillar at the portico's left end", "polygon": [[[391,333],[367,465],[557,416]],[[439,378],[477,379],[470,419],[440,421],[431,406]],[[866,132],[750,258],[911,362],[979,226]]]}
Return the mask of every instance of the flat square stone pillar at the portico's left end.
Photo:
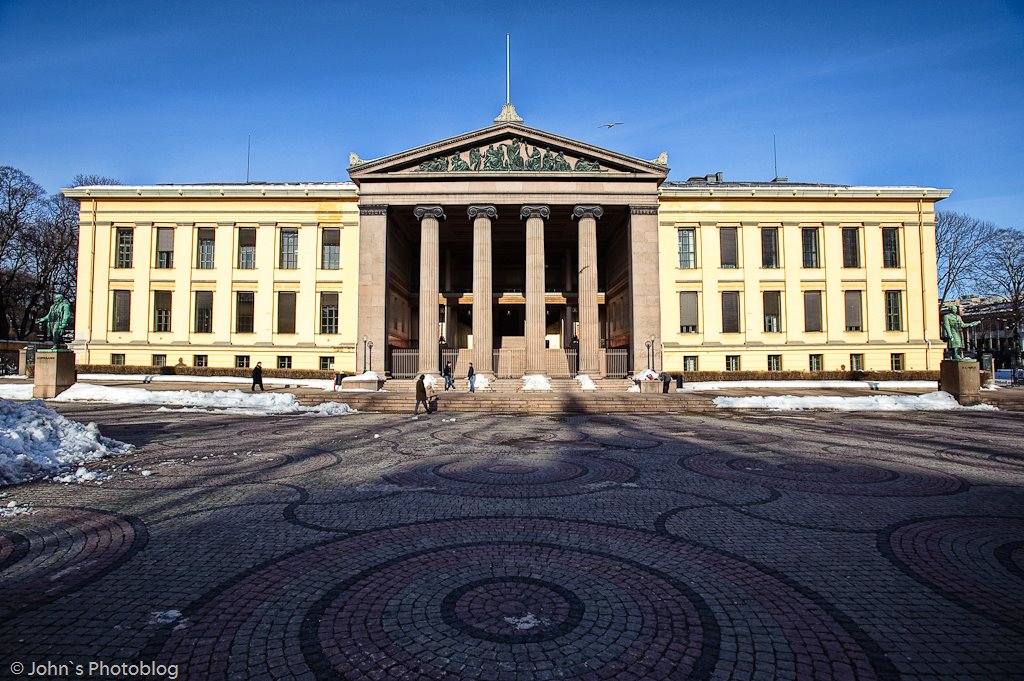
{"label": "flat square stone pillar at the portico's left end", "polygon": [[[230,270],[228,269],[228,271]],[[383,378],[385,355],[387,354],[386,205],[359,205],[358,292],[355,367],[337,367],[336,369],[339,372],[354,370],[355,373],[359,374],[362,373],[365,366]],[[217,309],[216,304],[214,309]],[[373,349],[368,347],[364,339],[373,342]]]}

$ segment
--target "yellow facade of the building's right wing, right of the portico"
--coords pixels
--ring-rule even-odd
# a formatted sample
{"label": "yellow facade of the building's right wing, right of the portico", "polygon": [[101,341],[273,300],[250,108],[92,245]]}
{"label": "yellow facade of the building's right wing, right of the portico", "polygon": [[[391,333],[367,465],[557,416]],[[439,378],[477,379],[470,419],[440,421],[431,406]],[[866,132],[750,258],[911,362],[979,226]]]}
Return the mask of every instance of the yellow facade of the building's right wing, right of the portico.
{"label": "yellow facade of the building's right wing, right of the portico", "polygon": [[[739,370],[937,370],[939,339],[935,266],[935,202],[948,191],[919,187],[697,185],[663,188],[659,270],[665,367]],[[777,229],[778,266],[765,267],[762,230]],[[736,266],[723,267],[722,228],[735,228]],[[803,229],[816,230],[818,267],[805,267]],[[859,267],[844,266],[843,229],[857,230]],[[883,229],[895,228],[898,266],[884,266]],[[695,263],[681,263],[679,230],[692,229]],[[892,233],[892,232],[891,232]],[[684,258],[685,259],[685,258]],[[695,264],[695,266],[681,266]],[[777,331],[766,330],[766,291],[777,291]],[[860,331],[848,331],[846,292],[861,292]],[[680,294],[696,293],[695,333],[680,332]],[[736,292],[738,330],[723,332],[722,293]],[[820,293],[820,331],[808,332],[805,292]],[[889,330],[886,292],[899,293],[899,330]],[[812,294],[813,295],[813,294]],[[856,294],[854,294],[856,295]],[[891,300],[892,298],[890,298]],[[769,355],[778,357],[769,367]],[[733,365],[730,369],[735,369]]]}

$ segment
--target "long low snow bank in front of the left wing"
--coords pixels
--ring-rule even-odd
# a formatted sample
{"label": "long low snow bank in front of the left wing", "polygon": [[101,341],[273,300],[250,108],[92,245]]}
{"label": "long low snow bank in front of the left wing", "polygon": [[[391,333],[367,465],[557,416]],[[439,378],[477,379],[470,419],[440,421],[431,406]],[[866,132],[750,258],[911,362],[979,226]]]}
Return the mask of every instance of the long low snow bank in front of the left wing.
{"label": "long low snow bank in front of the left wing", "polygon": [[115,405],[157,405],[162,408],[181,407],[179,411],[216,411],[225,414],[315,414],[317,416],[342,416],[353,414],[344,402],[326,402],[315,407],[303,407],[290,392],[243,392],[242,390],[146,390],[144,388],[122,388],[105,385],[76,383],[59,395],[55,401],[98,401]]}

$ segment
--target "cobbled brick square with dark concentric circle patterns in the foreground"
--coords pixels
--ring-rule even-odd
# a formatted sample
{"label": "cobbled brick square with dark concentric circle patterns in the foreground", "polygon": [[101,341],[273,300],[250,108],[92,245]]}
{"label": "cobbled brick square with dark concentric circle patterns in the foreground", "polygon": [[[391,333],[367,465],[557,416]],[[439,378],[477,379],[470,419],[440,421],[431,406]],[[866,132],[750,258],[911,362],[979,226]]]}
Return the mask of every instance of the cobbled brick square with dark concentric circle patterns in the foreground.
{"label": "cobbled brick square with dark concentric circle patterns in the foreground", "polygon": [[58,409],[138,449],[6,488],[0,678],[1024,676],[1019,413]]}

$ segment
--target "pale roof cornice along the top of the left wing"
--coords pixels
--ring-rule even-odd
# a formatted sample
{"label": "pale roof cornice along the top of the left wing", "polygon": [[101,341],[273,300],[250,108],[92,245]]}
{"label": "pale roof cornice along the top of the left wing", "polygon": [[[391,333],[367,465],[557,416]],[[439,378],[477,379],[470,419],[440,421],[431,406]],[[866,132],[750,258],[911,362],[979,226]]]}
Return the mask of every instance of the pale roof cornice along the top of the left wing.
{"label": "pale roof cornice along the top of the left wing", "polygon": [[352,182],[294,184],[99,184],[60,189],[69,199],[350,199]]}

